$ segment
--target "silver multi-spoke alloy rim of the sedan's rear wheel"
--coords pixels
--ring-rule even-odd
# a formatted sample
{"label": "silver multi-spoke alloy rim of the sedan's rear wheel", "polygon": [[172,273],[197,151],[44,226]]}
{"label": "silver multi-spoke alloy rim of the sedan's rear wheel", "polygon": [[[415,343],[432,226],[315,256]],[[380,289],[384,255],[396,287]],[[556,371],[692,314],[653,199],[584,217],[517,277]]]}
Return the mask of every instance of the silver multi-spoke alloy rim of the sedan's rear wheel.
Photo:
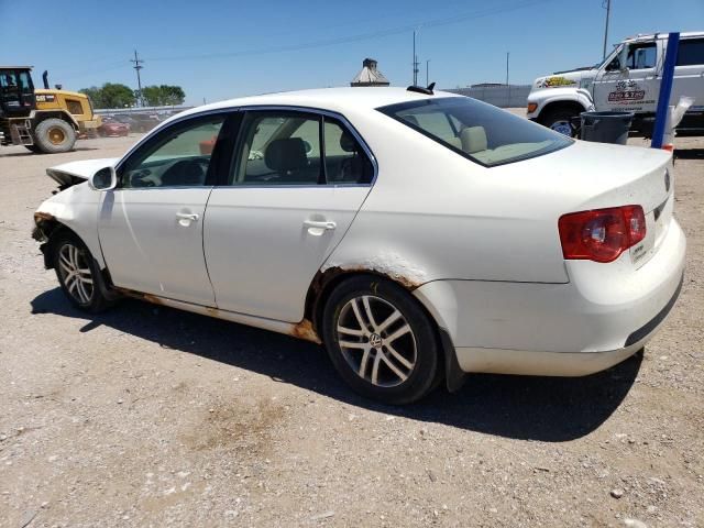
{"label": "silver multi-spoke alloy rim of the sedan's rear wheel", "polygon": [[410,324],[380,297],[350,299],[340,310],[337,338],[350,367],[374,386],[400,385],[416,367],[418,350]]}

